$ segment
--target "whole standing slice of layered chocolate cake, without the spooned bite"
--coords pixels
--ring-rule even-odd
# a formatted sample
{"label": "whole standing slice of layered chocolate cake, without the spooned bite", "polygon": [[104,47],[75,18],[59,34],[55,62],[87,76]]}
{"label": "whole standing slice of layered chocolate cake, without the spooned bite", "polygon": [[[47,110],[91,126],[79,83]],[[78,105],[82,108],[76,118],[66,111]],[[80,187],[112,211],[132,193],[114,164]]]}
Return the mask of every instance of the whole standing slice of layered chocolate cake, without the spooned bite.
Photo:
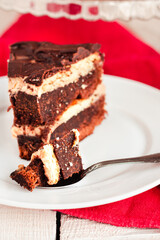
{"label": "whole standing slice of layered chocolate cake, without the spooned bite", "polygon": [[20,157],[76,128],[80,140],[105,116],[103,54],[99,44],[20,42],[11,46],[9,95],[12,135]]}

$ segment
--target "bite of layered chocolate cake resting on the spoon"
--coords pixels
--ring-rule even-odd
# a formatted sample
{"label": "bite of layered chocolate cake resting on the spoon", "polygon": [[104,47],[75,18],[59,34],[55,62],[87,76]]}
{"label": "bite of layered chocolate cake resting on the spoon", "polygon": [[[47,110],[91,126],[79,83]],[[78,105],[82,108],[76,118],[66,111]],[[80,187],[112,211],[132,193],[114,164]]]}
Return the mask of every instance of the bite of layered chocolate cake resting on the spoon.
{"label": "bite of layered chocolate cake resting on the spoon", "polygon": [[52,144],[42,146],[32,154],[27,167],[20,165],[10,177],[29,191],[37,186],[54,186],[82,170],[79,154],[79,132],[71,130]]}

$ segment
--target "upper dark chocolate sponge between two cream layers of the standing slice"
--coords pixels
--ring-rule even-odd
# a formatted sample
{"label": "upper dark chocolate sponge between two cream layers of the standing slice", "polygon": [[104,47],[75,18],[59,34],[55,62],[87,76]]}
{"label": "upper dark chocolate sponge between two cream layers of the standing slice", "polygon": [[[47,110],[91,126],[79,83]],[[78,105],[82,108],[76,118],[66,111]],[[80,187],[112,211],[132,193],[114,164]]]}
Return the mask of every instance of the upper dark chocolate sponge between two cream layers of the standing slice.
{"label": "upper dark chocolate sponge between two cream layers of the standing slice", "polygon": [[38,126],[53,124],[75,99],[88,98],[101,82],[101,67],[75,83],[46,92],[40,98],[19,91],[11,95],[14,124]]}

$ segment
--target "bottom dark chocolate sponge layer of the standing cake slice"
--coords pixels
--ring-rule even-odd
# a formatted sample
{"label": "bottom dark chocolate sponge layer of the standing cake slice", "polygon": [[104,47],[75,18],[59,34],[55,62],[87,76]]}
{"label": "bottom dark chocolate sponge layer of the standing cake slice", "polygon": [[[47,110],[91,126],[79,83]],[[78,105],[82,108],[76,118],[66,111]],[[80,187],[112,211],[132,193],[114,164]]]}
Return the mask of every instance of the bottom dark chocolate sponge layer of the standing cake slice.
{"label": "bottom dark chocolate sponge layer of the standing cake slice", "polygon": [[[105,117],[105,97],[102,96],[98,101],[93,103],[90,107],[86,108],[84,111],[80,112],[76,116],[72,117],[66,123],[61,124],[57,127],[52,135],[50,142],[53,143],[54,139],[57,137],[62,137],[68,131],[75,128],[80,132],[80,140],[84,139],[88,135],[92,134],[94,128],[99,125]],[[48,132],[48,127],[46,126],[46,131]],[[45,132],[45,130],[44,130]],[[44,134],[43,132],[43,134]],[[38,150],[38,148],[43,145],[42,136],[17,136],[19,145],[19,154],[21,158],[30,160],[31,154]]]}

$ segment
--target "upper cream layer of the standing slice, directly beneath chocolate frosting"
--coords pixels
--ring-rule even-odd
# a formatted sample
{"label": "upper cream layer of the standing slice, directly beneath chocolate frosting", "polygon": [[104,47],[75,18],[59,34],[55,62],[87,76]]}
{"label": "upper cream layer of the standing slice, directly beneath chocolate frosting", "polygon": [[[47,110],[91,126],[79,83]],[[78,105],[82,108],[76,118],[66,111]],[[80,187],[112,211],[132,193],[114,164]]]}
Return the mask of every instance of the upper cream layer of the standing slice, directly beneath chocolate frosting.
{"label": "upper cream layer of the standing slice, directly beneath chocolate frosting", "polygon": [[95,61],[98,61],[99,65],[102,65],[101,57],[98,53],[91,54],[77,63],[73,63],[69,70],[59,71],[53,76],[46,78],[41,86],[35,86],[24,82],[27,77],[9,78],[9,92],[11,94],[16,94],[21,91],[29,95],[37,95],[40,97],[43,93],[51,92],[69,83],[77,82],[80,76],[84,77],[88,75],[95,69]]}

